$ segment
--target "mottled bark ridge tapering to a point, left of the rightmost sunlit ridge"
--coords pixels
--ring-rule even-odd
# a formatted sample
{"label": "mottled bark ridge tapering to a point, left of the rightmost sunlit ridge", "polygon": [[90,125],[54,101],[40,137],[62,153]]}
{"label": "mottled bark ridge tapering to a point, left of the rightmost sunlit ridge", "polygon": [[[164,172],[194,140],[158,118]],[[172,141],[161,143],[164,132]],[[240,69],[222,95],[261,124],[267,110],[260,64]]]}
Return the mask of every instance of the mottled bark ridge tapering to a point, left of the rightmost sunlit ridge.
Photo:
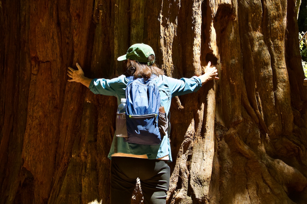
{"label": "mottled bark ridge tapering to a point, left of the rightmost sunlit ridge", "polygon": [[[272,86],[266,84],[271,83],[270,77],[272,73],[268,66],[270,58],[267,54],[267,48],[264,45],[264,39],[261,33],[262,5],[260,1],[254,2],[251,6],[246,2],[239,1],[239,5],[239,25],[242,28],[246,27],[246,29],[239,30],[242,42],[246,42],[242,44],[242,49],[243,73],[244,78],[248,79],[245,82],[246,90],[249,93],[247,96],[263,130],[268,132],[265,121],[270,121],[269,123],[271,123],[272,117],[274,116],[269,114],[269,110],[273,109],[272,106],[274,105],[274,93]],[[250,21],[246,21],[246,19],[250,19]],[[249,23],[251,24],[249,25]],[[256,78],[259,72],[262,73],[262,77]],[[264,89],[269,94],[263,95],[262,90]],[[262,107],[262,100],[271,100],[272,102],[270,104],[263,104],[264,107]]]}

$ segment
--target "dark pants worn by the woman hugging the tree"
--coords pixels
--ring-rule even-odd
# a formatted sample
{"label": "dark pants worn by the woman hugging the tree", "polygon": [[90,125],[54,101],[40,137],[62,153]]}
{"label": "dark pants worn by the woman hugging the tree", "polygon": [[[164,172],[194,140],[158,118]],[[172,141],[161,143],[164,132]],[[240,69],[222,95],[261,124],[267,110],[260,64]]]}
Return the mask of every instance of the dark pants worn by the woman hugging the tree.
{"label": "dark pants worn by the woman hugging the tree", "polygon": [[169,177],[167,161],[112,157],[111,204],[130,204],[137,178],[141,181],[145,204],[165,204]]}

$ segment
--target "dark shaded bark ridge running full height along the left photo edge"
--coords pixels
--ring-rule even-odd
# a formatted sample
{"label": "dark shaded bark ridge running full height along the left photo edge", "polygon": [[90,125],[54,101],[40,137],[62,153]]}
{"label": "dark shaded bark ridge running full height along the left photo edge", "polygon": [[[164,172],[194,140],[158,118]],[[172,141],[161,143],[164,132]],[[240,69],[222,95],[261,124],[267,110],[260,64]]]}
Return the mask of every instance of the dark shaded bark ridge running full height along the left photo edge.
{"label": "dark shaded bark ridge running full height along the left photo edge", "polygon": [[[27,103],[20,104],[22,99],[18,96],[24,97],[23,99],[27,98],[29,72],[24,66],[20,66],[21,62],[25,64],[27,62],[22,55],[25,43],[21,43],[23,39],[21,35],[25,33],[25,29],[21,27],[21,22],[24,22],[21,19],[21,6],[23,6],[21,2],[2,2],[0,8],[2,25],[0,47],[1,50],[7,51],[7,53],[0,54],[0,94],[2,96],[0,99],[0,175],[2,175],[0,177],[2,186],[0,200],[3,202],[11,202],[16,195],[19,182],[15,178],[20,174],[22,135],[25,132]],[[23,82],[24,84],[21,84]],[[8,87],[10,91],[7,91]]]}

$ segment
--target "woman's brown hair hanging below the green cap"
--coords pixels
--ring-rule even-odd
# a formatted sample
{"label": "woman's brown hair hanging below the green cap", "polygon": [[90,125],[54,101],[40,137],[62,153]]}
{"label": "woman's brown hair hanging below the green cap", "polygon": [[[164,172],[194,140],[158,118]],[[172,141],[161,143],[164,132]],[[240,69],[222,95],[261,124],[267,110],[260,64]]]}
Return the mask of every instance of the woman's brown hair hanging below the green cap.
{"label": "woman's brown hair hanging below the green cap", "polygon": [[[148,57],[148,61],[153,61],[155,59],[155,56],[151,54]],[[149,79],[152,74],[155,74],[157,76],[163,75],[164,71],[160,69],[156,63],[153,63],[152,65],[147,65],[147,63],[138,62],[135,60],[131,60],[131,67],[127,70],[127,74],[130,76],[133,76],[134,79],[136,78],[144,78]]]}

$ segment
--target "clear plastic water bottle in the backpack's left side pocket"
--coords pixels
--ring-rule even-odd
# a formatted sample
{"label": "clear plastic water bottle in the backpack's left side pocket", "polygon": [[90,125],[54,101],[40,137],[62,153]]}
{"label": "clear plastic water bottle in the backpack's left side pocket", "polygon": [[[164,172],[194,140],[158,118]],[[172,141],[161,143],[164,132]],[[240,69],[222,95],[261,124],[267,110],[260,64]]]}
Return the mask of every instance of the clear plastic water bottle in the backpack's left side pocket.
{"label": "clear plastic water bottle in the backpack's left side pocket", "polygon": [[126,98],[122,98],[120,102],[116,113],[116,136],[127,138]]}

